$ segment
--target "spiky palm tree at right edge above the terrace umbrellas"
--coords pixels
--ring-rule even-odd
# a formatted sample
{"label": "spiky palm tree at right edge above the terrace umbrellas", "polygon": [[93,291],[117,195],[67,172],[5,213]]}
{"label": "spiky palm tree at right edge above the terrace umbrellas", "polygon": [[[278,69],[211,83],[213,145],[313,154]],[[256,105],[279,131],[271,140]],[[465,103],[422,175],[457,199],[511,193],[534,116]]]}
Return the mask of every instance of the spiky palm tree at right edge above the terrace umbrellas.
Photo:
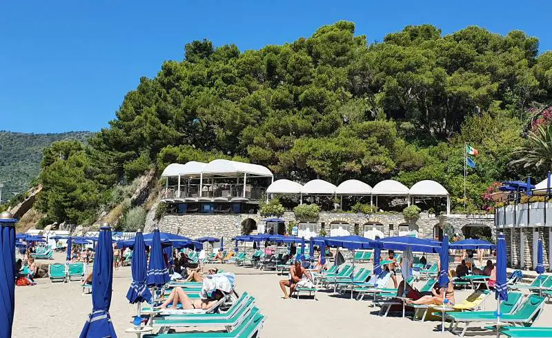
{"label": "spiky palm tree at right edge above the terrace umbrellas", "polygon": [[523,168],[535,167],[552,170],[552,126],[538,126],[527,135],[524,146],[514,151],[519,159],[511,161],[511,164],[522,163]]}

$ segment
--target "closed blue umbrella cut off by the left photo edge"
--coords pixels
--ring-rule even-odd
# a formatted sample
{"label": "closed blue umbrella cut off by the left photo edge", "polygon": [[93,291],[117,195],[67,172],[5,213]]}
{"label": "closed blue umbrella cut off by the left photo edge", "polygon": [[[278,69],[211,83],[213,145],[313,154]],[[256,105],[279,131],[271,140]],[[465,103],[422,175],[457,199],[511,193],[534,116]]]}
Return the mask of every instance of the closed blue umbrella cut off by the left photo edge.
{"label": "closed blue umbrella cut off by the left photo edge", "polygon": [[0,214],[0,337],[12,337],[15,307],[15,223],[8,212]]}

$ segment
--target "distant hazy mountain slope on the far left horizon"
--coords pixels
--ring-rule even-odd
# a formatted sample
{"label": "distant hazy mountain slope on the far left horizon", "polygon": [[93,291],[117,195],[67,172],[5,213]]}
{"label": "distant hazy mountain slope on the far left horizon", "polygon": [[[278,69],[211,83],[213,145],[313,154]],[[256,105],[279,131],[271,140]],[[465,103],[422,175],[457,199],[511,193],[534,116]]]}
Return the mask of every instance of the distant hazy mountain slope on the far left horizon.
{"label": "distant hazy mountain slope on the far left horizon", "polygon": [[27,134],[0,130],[2,201],[27,190],[31,181],[38,177],[44,147],[64,139],[86,141],[90,135],[92,132]]}

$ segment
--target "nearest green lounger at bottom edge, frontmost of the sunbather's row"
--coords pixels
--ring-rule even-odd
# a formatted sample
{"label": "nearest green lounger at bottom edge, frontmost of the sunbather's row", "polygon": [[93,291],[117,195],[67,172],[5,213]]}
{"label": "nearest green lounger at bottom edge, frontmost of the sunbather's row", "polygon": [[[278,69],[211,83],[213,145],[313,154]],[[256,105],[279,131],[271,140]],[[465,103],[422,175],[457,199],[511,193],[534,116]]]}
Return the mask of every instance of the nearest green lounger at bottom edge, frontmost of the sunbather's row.
{"label": "nearest green lounger at bottom edge, frontmost of the sunbather's row", "polygon": [[144,335],[144,338],[251,338],[259,337],[266,317],[259,312],[251,311],[244,320],[230,332],[175,332]]}

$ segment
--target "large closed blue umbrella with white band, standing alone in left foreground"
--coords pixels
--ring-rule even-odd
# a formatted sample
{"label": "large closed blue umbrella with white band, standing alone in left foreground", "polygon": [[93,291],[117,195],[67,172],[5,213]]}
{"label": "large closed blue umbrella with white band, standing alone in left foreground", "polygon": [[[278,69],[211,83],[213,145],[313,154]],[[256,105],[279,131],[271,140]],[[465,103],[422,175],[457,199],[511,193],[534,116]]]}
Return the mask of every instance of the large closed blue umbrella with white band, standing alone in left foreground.
{"label": "large closed blue umbrella with white band, standing alone in left foreground", "polygon": [[117,338],[109,315],[113,281],[113,242],[111,228],[102,226],[92,268],[92,313],[84,324],[80,338]]}

